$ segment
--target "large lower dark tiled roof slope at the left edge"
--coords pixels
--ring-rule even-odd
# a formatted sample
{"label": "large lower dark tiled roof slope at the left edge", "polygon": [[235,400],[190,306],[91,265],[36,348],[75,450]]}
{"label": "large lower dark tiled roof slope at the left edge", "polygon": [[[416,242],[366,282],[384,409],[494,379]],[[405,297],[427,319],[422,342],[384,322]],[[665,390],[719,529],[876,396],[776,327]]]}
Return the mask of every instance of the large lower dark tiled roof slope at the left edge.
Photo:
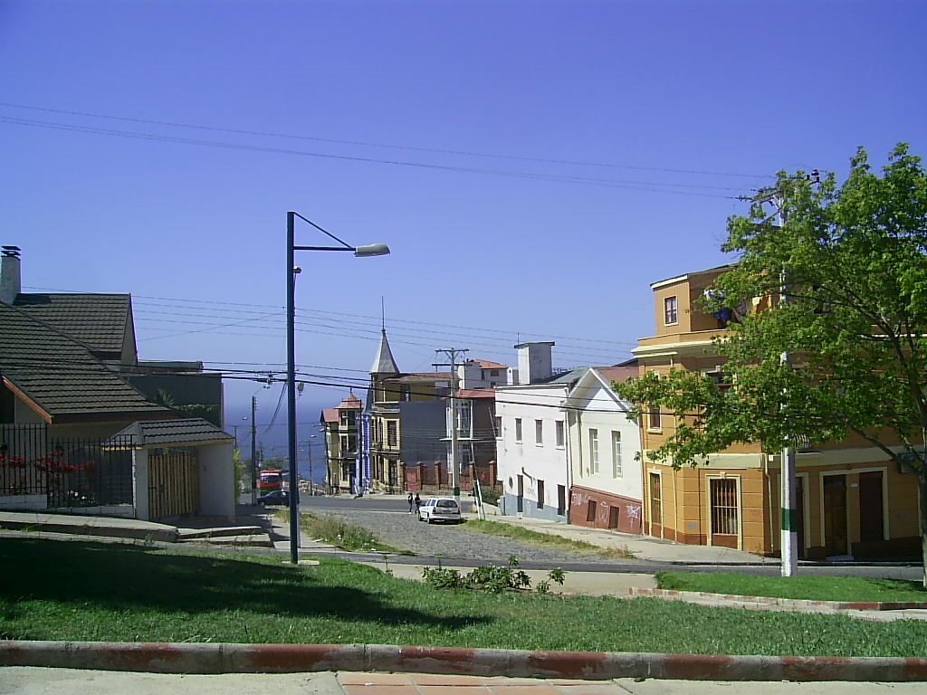
{"label": "large lower dark tiled roof slope at the left edge", "polygon": [[171,416],[97,360],[89,347],[31,312],[0,302],[0,326],[0,374],[53,422],[70,415]]}

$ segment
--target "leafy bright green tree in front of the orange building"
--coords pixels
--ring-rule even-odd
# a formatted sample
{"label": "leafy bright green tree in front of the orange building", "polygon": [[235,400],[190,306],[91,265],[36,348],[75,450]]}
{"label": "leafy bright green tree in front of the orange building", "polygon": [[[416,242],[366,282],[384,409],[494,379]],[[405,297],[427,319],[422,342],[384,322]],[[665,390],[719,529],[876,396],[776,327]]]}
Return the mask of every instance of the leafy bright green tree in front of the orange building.
{"label": "leafy bright green tree in front of the orange building", "polygon": [[[760,200],[728,221],[722,249],[736,254],[703,309],[786,302],[746,312],[716,341],[726,383],[699,373],[647,374],[616,391],[685,413],[650,452],[679,467],[735,442],[780,449],[796,437],[823,443],[856,434],[913,471],[927,568],[927,173],[897,145],[882,171],[867,153],[842,185],[781,172],[773,191],[784,223]],[[780,363],[791,352],[794,365]],[[644,407],[645,408],[645,407]],[[637,415],[640,416],[641,409]],[[927,587],[927,571],[924,575]]]}

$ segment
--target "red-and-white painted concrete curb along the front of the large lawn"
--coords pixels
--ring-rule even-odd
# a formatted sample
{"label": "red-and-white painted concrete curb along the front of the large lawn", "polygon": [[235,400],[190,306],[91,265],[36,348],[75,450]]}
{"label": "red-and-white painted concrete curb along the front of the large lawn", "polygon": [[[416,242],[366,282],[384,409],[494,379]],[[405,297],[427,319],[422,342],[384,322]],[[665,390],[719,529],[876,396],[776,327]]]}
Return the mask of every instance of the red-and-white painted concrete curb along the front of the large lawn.
{"label": "red-and-white painted concrete curb along the front of the large lawn", "polygon": [[364,644],[0,642],[0,666],[168,674],[399,673],[545,678],[927,681],[927,658],[714,656]]}

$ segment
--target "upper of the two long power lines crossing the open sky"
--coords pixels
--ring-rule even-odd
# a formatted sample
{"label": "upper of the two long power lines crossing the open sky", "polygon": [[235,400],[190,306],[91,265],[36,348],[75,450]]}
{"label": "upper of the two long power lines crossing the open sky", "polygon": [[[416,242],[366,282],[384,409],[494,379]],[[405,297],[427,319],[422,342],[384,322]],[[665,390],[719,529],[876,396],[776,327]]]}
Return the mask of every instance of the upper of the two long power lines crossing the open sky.
{"label": "upper of the two long power lines crossing the open sky", "polygon": [[222,128],[219,126],[211,125],[202,125],[194,123],[181,123],[177,121],[170,120],[153,120],[153,119],[139,119],[131,118],[127,116],[113,116],[111,114],[101,114],[101,113],[91,113],[88,111],[75,111],[64,108],[49,108],[49,107],[34,107],[28,106],[25,104],[13,104],[10,102],[0,102],[0,107],[8,108],[21,108],[28,109],[32,111],[42,111],[44,113],[57,113],[67,116],[81,116],[86,118],[94,119],[106,119],[106,120],[121,120],[123,122],[129,123],[144,123],[146,125],[161,125],[168,126],[171,128],[187,128],[195,129],[201,131],[210,131],[212,133],[235,133],[238,135],[258,135],[260,137],[273,137],[273,138],[285,138],[289,140],[306,140],[311,142],[320,142],[320,143],[330,143],[334,145],[360,145],[363,147],[383,147],[388,149],[399,149],[407,150],[412,152],[428,152],[432,154],[442,154],[442,155],[456,155],[461,157],[482,157],[482,158],[493,158],[493,159],[508,159],[513,161],[530,161],[541,164],[560,164],[560,165],[572,165],[572,166],[582,166],[582,167],[597,167],[605,169],[623,169],[631,171],[654,171],[662,173],[681,173],[681,174],[694,174],[699,176],[728,176],[735,178],[746,178],[746,179],[768,179],[770,178],[768,174],[748,174],[748,173],[730,173],[725,171],[699,171],[692,169],[670,169],[665,167],[647,167],[640,165],[631,165],[631,164],[615,164],[610,162],[596,162],[596,161],[582,161],[575,159],[556,159],[556,158],[541,158],[541,157],[521,157],[517,155],[502,155],[494,154],[487,152],[473,152],[468,150],[458,150],[458,149],[449,149],[449,148],[438,148],[438,147],[423,147],[417,145],[390,145],[384,143],[374,143],[362,140],[339,140],[336,138],[324,138],[317,137],[312,135],[297,135],[291,133],[273,133],[268,131],[256,131],[256,130],[246,130],[240,128]]}

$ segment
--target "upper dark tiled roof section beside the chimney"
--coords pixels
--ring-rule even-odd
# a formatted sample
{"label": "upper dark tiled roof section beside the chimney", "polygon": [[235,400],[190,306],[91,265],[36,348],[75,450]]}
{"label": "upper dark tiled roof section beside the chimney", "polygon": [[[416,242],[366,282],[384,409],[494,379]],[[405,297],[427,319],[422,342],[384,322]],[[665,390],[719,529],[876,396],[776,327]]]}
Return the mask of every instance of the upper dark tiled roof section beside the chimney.
{"label": "upper dark tiled roof section beside the chimney", "polygon": [[19,294],[13,304],[95,352],[121,354],[132,296]]}

